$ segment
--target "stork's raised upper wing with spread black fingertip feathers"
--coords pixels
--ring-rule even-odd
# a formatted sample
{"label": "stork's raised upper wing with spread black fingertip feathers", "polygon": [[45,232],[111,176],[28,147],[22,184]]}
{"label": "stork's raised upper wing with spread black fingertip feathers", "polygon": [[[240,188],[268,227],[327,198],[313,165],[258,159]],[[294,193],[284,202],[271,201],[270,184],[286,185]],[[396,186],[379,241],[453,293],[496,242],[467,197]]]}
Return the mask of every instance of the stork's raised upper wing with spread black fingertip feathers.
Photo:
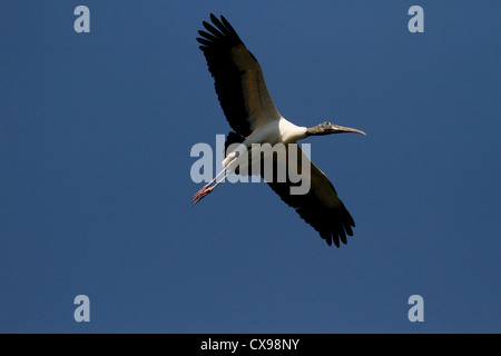
{"label": "stork's raised upper wing with spread black fingertip feathers", "polygon": [[213,24],[203,22],[208,31],[198,31],[197,41],[215,80],[223,111],[239,135],[247,137],[254,129],[278,120],[276,109],[256,58],[247,50],[232,24],[222,16],[210,14]]}

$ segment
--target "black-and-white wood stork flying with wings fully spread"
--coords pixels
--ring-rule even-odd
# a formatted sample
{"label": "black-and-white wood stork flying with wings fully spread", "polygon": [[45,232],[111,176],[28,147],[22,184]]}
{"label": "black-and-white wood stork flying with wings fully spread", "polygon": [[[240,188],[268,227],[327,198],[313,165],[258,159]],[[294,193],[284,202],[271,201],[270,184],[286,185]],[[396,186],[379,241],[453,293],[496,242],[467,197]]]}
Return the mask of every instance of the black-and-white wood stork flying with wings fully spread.
{"label": "black-and-white wood stork flying with wings fully spread", "polygon": [[[220,106],[235,132],[229,132],[227,144],[243,142],[250,148],[253,144],[275,145],[277,142],[292,144],[310,136],[321,136],[342,132],[365,132],[323,122],[318,126],[306,128],[296,126],[281,116],[266,89],[263,70],[257,59],[247,50],[240,38],[222,16],[220,19],[210,14],[213,24],[203,21],[197,41],[207,60],[208,69],[215,80],[215,89]],[[289,147],[289,145],[286,145]],[[355,222],[337,197],[334,186],[327,176],[320,170],[301,151],[301,159],[306,159],[311,165],[311,188],[305,195],[292,195],[287,179],[285,182],[267,181],[272,189],[287,205],[293,207],[299,216],[310,224],[328,246],[340,247],[340,241],[346,244],[346,235],[353,236],[352,227]],[[223,161],[225,169],[229,168],[235,156],[228,155]],[[277,164],[276,160],[274,160]],[[223,171],[225,171],[223,169]],[[193,197],[195,205],[223,181],[216,181],[223,174],[219,172],[210,182],[202,188]],[[227,177],[227,176],[225,176]],[[214,182],[216,184],[212,186]]]}

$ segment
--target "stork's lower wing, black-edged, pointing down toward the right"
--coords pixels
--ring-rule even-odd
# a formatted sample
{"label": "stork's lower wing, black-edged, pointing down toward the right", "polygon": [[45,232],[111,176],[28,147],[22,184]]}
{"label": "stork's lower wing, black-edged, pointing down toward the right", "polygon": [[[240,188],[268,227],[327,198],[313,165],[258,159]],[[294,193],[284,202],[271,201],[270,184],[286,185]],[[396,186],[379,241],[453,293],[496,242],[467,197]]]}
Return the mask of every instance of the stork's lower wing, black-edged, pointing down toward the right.
{"label": "stork's lower wing, black-edged, pointing down toward the right", "polygon": [[[286,147],[286,162],[288,162],[289,170],[295,170],[301,175],[302,164],[310,164],[311,174],[308,192],[305,195],[292,195],[291,187],[298,186],[301,182],[293,184],[288,178],[285,182],[277,181],[276,172],[279,169],[278,166],[283,165],[284,161],[277,159],[276,156],[273,158],[273,181],[266,182],[283,201],[293,207],[307,224],[320,233],[320,236],[325,239],[328,246],[331,246],[333,241],[337,247],[340,247],[340,241],[346,244],[346,235],[353,236],[352,227],[355,227],[355,221],[343,201],[337,197],[337,192],[331,180],[310,160],[310,158],[307,158],[299,146],[297,146],[297,166],[294,167],[294,160],[291,161],[288,159],[289,146],[287,145]],[[263,172],[264,170],[262,169],[261,171]],[[262,177],[265,178],[263,174]],[[308,177],[303,177],[303,179],[307,178]]]}

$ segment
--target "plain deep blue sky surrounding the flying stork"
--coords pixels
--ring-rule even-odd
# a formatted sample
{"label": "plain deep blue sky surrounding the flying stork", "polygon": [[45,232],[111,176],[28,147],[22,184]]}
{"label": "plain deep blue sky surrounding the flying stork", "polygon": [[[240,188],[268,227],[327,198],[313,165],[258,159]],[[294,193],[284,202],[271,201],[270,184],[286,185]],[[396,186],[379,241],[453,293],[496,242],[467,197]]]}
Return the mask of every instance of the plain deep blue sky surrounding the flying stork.
{"label": "plain deep blue sky surrounding the flying stork", "polygon": [[[90,9],[90,33],[73,10]],[[407,10],[424,9],[424,33]],[[224,14],[356,221],[265,184],[193,207],[229,130],[195,40]],[[500,333],[500,1],[0,1],[1,333]],[[90,298],[76,323],[73,298]],[[424,323],[407,299],[424,298]]]}

